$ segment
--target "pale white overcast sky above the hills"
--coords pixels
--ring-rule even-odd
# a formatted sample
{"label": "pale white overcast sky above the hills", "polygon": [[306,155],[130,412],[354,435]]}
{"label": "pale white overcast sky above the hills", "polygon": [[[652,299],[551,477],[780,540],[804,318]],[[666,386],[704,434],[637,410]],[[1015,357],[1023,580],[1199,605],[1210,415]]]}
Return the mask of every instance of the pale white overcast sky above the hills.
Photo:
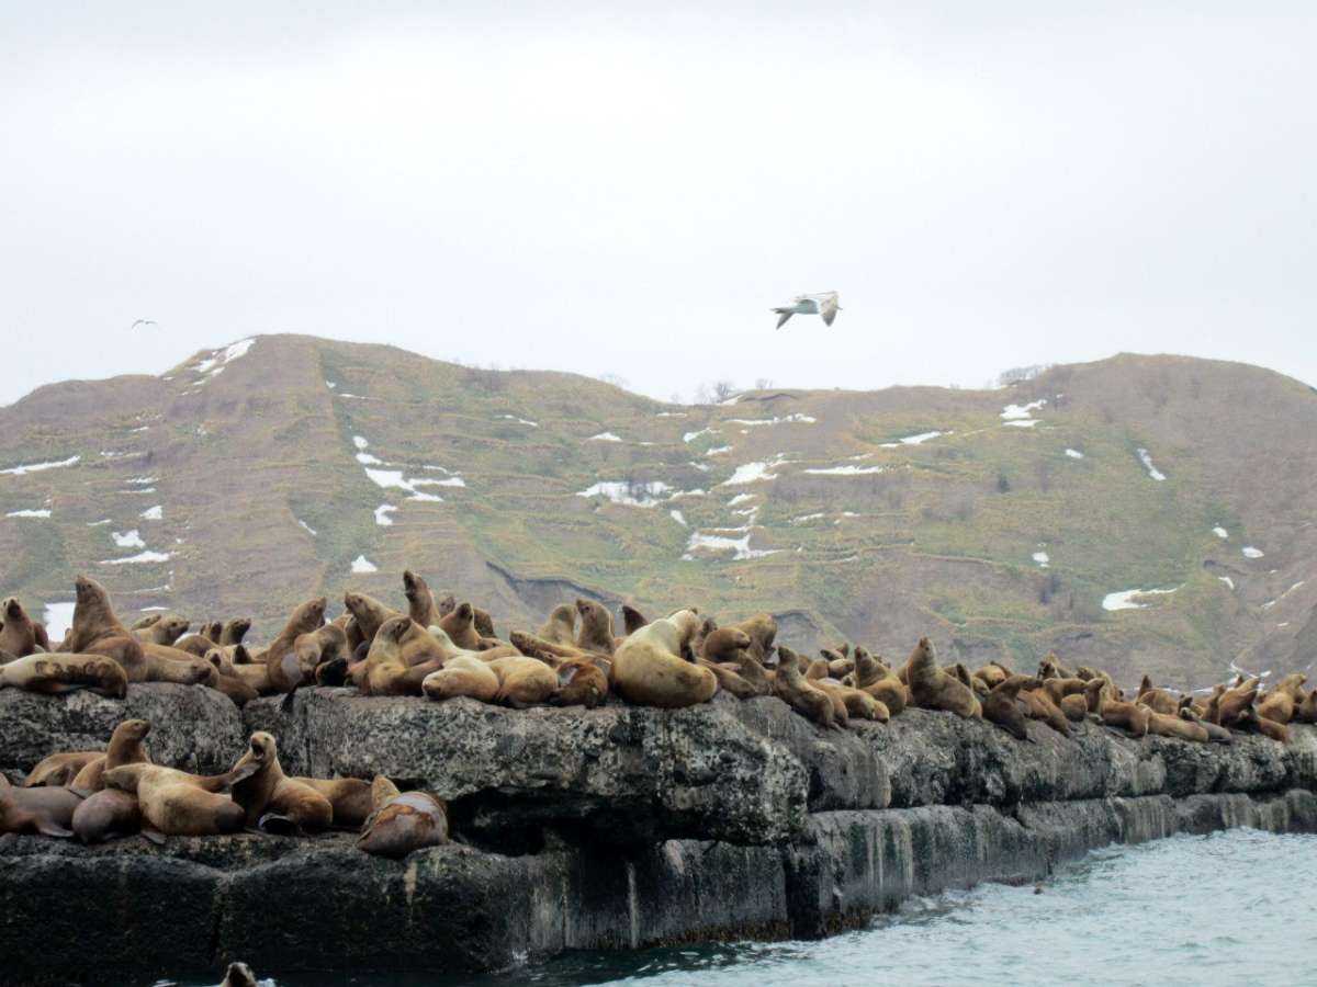
{"label": "pale white overcast sky above the hills", "polygon": [[0,0],[0,404],[278,332],[665,400],[1119,351],[1317,384],[1314,38],[1310,1]]}

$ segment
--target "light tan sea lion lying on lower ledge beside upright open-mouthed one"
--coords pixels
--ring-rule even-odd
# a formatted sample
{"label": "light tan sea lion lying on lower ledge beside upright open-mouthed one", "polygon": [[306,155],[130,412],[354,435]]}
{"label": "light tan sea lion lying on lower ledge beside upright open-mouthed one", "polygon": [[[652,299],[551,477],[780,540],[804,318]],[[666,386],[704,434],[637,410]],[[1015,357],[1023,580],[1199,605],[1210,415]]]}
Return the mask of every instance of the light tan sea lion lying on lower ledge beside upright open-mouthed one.
{"label": "light tan sea lion lying on lower ledge beside upright open-mouthed one", "polygon": [[242,830],[242,807],[216,792],[257,770],[242,765],[228,774],[202,776],[159,765],[122,765],[105,771],[105,787],[137,796],[142,809],[142,834],[153,841],[165,836],[215,836]]}

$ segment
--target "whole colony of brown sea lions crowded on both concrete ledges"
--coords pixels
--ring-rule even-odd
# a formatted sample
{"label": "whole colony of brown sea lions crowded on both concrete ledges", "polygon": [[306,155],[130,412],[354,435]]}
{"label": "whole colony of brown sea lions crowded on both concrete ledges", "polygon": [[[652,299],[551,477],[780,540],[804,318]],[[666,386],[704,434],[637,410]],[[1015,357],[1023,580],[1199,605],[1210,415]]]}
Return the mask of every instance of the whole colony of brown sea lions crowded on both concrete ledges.
{"label": "whole colony of brown sea lions crowded on both concrete ledges", "polygon": [[[54,650],[45,650],[45,629],[18,600],[4,601],[0,641],[18,650],[0,650],[0,687],[88,688],[122,697],[129,683],[174,682],[216,688],[240,705],[283,694],[286,705],[298,688],[328,686],[436,701],[469,696],[514,708],[594,708],[612,694],[674,708],[724,691],[738,699],[777,696],[822,728],[886,722],[917,705],[986,720],[1021,741],[1031,740],[1030,720],[1064,737],[1102,726],[1204,744],[1230,742],[1235,730],[1284,742],[1289,722],[1317,722],[1317,690],[1305,692],[1303,675],[1285,676],[1267,692],[1258,679],[1239,676],[1206,697],[1173,695],[1144,676],[1127,699],[1106,672],[1067,669],[1054,654],[1034,675],[998,663],[972,672],[963,665],[943,667],[926,637],[896,669],[851,645],[809,659],[774,645],[777,624],[766,613],[718,626],[694,608],[649,620],[624,607],[626,633],[616,636],[607,608],[585,599],[556,607],[535,633],[516,630],[504,641],[486,612],[452,596],[436,600],[417,574],[404,572],[403,588],[406,613],[349,592],[346,612],[325,622],[325,597],[307,600],[270,645],[254,647],[244,644],[246,619],[212,621],[195,634],[186,634],[190,622],[175,616],[153,616],[129,629],[104,587],[79,576],[72,628]],[[0,832],[100,842],[134,833],[163,840],[340,828],[360,830],[362,850],[391,858],[448,841],[443,800],[400,792],[383,776],[373,783],[290,778],[269,733],[253,734],[230,771],[198,776],[153,765],[142,746],[149,730],[142,720],[125,721],[105,753],[53,754],[24,787],[0,784]]]}

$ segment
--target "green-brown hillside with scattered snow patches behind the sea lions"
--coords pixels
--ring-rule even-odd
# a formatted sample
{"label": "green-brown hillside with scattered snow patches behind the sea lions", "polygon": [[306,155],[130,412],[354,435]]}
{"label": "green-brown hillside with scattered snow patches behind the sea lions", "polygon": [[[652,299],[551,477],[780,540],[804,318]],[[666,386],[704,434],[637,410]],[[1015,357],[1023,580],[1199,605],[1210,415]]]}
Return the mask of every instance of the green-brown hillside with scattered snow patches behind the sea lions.
{"label": "green-brown hillside with scattered snow patches behind the sea lions", "polygon": [[687,407],[270,336],[0,408],[0,592],[40,616],[86,571],[267,637],[311,595],[400,607],[411,567],[502,632],[583,594],[1201,686],[1317,654],[1314,463],[1317,393],[1234,363]]}

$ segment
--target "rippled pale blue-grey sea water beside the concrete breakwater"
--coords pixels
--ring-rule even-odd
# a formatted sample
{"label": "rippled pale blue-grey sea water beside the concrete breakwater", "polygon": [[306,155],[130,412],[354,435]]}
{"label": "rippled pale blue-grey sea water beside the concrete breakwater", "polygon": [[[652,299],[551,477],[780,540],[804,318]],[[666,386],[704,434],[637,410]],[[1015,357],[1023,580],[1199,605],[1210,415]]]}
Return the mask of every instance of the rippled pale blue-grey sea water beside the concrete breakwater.
{"label": "rippled pale blue-grey sea water beside the concrete breakwater", "polygon": [[1110,846],[1036,890],[917,899],[820,941],[577,953],[473,976],[255,974],[266,987],[1317,984],[1317,836],[1234,829]]}

